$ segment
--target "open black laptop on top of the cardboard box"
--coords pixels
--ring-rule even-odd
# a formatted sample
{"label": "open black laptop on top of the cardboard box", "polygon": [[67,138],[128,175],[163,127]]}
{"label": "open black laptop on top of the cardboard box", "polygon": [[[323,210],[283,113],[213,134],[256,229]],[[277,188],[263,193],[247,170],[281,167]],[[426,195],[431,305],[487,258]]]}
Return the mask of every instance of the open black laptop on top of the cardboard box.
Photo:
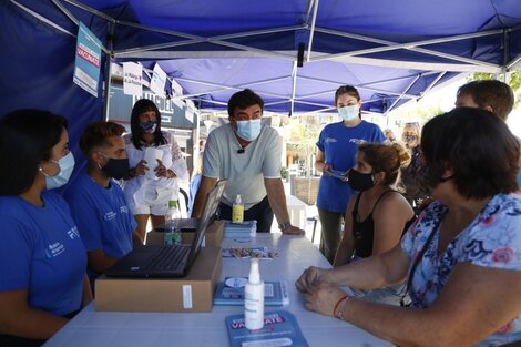
{"label": "open black laptop on top of the cardboard box", "polygon": [[208,193],[203,215],[191,245],[144,245],[119,259],[105,271],[109,277],[176,278],[184,277],[201,251],[206,227],[213,222],[226,181],[219,181]]}

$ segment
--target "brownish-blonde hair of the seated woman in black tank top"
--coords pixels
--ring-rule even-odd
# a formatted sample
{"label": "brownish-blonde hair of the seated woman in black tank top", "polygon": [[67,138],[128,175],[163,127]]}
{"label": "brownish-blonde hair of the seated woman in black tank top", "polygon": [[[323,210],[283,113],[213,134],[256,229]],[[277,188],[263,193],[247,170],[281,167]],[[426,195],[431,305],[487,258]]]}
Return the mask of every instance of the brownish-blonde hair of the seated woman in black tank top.
{"label": "brownish-blonde hair of the seated woman in black tank top", "polygon": [[410,162],[410,153],[401,144],[392,143],[362,143],[358,151],[364,153],[365,161],[372,166],[375,173],[384,172],[384,184],[395,185],[400,174],[400,167]]}

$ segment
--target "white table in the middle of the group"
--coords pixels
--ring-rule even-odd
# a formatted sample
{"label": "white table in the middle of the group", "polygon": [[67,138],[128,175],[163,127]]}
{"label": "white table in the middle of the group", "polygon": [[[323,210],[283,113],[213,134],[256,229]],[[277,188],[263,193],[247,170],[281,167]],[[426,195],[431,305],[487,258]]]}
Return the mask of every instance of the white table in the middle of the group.
{"label": "white table in the middle of the group", "polygon": [[[286,309],[298,320],[309,346],[392,346],[348,323],[326,317],[304,307],[302,295],[293,285],[310,265],[329,266],[324,256],[305,237],[280,234],[258,234],[256,239],[237,242],[225,239],[223,247],[268,246],[279,253],[273,261],[260,262],[265,280],[287,280],[289,306],[269,307],[266,312]],[[223,258],[221,279],[247,276],[249,261]],[[166,300],[167,298],[165,298]],[[172,347],[229,346],[224,319],[241,314],[239,306],[214,306],[211,313],[108,313],[96,312],[91,304],[58,331],[45,347]]]}

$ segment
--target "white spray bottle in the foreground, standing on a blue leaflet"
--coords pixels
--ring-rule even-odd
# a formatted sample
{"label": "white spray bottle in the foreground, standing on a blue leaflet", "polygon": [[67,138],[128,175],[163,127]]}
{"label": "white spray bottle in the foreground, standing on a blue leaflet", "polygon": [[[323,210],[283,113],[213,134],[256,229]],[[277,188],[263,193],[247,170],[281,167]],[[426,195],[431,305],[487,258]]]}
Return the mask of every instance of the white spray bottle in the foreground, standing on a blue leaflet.
{"label": "white spray bottle in the foreground, standing on a blue leaflet", "polygon": [[258,272],[258,259],[252,258],[248,282],[244,287],[244,323],[249,330],[264,326],[264,282]]}

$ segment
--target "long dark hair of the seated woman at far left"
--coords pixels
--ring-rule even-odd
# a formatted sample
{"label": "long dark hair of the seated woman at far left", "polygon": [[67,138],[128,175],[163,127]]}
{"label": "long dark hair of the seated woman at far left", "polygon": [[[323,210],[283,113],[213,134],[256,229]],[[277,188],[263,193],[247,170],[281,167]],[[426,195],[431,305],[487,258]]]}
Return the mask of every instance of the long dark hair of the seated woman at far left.
{"label": "long dark hair of the seated woman at far left", "polygon": [[19,195],[32,186],[63,129],[63,116],[41,110],[18,110],[0,119],[0,195]]}

